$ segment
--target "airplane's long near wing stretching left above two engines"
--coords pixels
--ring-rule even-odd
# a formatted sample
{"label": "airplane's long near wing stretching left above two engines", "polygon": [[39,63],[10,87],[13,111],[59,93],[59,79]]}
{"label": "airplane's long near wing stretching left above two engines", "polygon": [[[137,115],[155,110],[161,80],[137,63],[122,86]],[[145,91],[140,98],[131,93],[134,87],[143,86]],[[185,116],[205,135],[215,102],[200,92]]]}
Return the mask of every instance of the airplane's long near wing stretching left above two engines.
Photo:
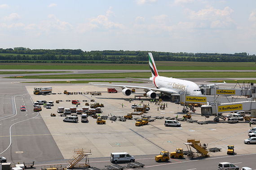
{"label": "airplane's long near wing stretching left above two engines", "polygon": [[[92,85],[103,85],[103,84],[92,84]],[[134,85],[105,85],[105,86],[115,86],[115,87],[120,87],[122,89],[125,88],[135,88],[135,89],[144,89],[145,91],[154,91],[154,92],[163,92],[163,93],[168,93],[168,94],[177,94],[176,91],[172,89],[165,89],[165,88],[150,88],[150,87],[142,87],[142,86],[134,86]]]}

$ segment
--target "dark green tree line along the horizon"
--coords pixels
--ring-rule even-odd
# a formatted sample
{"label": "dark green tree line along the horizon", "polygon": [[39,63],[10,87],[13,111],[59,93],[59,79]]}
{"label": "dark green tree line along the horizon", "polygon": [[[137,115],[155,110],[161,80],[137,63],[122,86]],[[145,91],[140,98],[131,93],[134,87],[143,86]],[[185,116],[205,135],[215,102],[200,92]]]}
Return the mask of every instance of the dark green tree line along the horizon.
{"label": "dark green tree line along the horizon", "polygon": [[[82,51],[80,49],[56,49],[31,50],[24,47],[16,47],[14,49],[0,48],[0,62],[59,62],[59,63],[91,63],[92,61],[102,63],[124,63],[124,64],[144,64],[148,61],[149,51]],[[248,55],[246,52],[235,54],[219,54],[219,53],[186,53],[186,52],[157,52],[150,51],[155,61],[195,61],[195,62],[255,62],[255,55]],[[1,53],[9,53],[9,55],[1,55]],[[23,60],[23,61],[22,61]],[[26,61],[24,61],[26,60]],[[32,61],[33,60],[33,61]],[[51,61],[50,61],[51,60]],[[70,61],[72,60],[72,61]]]}

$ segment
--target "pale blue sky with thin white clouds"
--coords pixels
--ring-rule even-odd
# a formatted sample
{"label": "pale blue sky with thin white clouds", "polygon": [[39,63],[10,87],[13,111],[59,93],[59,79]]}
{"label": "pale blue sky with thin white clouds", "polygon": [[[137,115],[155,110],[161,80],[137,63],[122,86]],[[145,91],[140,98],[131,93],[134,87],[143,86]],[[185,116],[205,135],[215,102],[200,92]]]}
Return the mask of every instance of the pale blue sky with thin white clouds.
{"label": "pale blue sky with thin white clouds", "polygon": [[255,0],[0,0],[0,48],[256,54]]}

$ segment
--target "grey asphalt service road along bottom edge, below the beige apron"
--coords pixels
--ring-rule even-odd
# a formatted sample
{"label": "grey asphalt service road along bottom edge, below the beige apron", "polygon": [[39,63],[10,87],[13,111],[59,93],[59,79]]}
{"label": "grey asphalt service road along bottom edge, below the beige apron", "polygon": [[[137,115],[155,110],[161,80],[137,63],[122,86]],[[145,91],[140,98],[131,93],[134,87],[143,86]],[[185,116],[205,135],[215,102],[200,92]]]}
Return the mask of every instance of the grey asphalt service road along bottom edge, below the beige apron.
{"label": "grey asphalt service road along bottom edge, below the beige apron", "polygon": [[[154,160],[155,155],[142,155],[135,156],[136,161],[144,164],[144,168],[146,170],[216,170],[219,162],[230,162],[234,163],[234,165],[239,167],[239,170],[244,167],[251,167],[252,169],[256,169],[255,165],[255,154],[244,154],[244,155],[225,155],[219,157],[196,157],[194,159],[190,159],[188,157],[184,157],[182,159],[170,159],[167,162],[156,162]],[[81,164],[84,163],[84,160],[81,161]],[[53,166],[56,164],[61,164],[62,166],[67,166],[65,160],[61,161],[49,161],[49,162],[36,162],[35,169],[40,170],[41,166]],[[110,162],[110,157],[101,157],[101,158],[90,158],[89,156],[89,164],[91,167],[96,167],[98,169],[104,169],[107,165],[114,165]],[[120,166],[125,166],[125,162],[117,163]],[[131,170],[129,168],[125,168],[124,170]]]}

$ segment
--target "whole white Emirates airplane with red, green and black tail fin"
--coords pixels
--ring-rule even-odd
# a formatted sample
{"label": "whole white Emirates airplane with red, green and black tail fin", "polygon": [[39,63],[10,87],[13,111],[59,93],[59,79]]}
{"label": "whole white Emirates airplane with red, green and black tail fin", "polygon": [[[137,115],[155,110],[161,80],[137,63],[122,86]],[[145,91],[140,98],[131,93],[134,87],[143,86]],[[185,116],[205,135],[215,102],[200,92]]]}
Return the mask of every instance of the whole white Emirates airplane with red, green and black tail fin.
{"label": "whole white Emirates airplane with red, green and black tail fin", "polygon": [[[197,84],[192,81],[186,81],[181,79],[176,79],[172,77],[164,77],[159,76],[157,69],[154,64],[154,58],[152,53],[149,52],[149,64],[152,73],[152,77],[150,79],[138,79],[132,78],[137,80],[144,80],[144,81],[151,81],[154,87],[141,87],[141,86],[133,86],[133,85],[106,85],[106,86],[117,86],[121,87],[122,93],[125,96],[131,95],[132,91],[129,88],[136,88],[136,89],[144,89],[146,91],[146,95],[148,98],[156,98],[156,92],[162,92],[167,95],[171,94],[179,94],[181,91],[186,91],[190,93],[190,95],[202,95],[202,92]],[[93,85],[100,85],[100,84],[93,84]],[[102,85],[102,84],[101,84]]]}

